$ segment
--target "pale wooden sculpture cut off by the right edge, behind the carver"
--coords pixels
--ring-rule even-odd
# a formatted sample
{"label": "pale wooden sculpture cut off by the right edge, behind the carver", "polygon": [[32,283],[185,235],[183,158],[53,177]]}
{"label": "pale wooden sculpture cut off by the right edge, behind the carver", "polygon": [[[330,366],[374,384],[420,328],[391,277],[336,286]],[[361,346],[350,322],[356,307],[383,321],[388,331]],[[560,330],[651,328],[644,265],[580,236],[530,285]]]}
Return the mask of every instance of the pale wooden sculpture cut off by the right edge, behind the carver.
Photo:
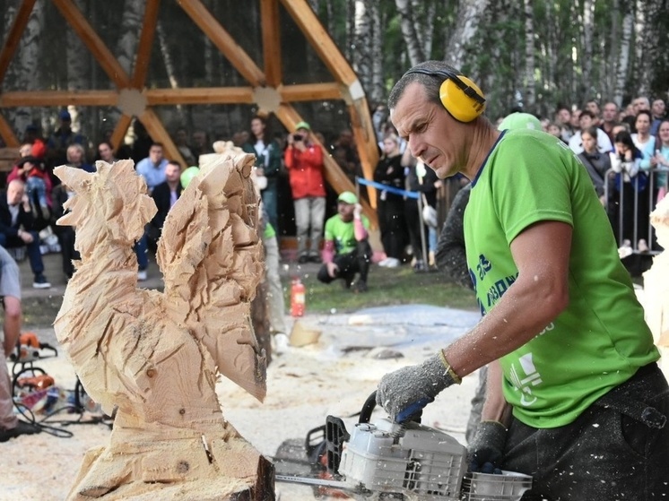
{"label": "pale wooden sculpture cut off by the right edge, behind the carver", "polygon": [[657,243],[665,250],[653,258],[653,266],[644,272],[644,309],[646,321],[662,354],[660,367],[669,377],[669,196],[657,203],[650,213]]}

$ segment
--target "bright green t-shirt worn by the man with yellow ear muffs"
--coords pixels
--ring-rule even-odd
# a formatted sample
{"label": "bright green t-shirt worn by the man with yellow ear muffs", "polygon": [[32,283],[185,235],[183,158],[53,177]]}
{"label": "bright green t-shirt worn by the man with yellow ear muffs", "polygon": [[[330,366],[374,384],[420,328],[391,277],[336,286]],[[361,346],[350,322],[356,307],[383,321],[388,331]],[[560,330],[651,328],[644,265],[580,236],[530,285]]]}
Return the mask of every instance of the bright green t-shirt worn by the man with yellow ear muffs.
{"label": "bright green t-shirt worn by the man with yellow ear muffs", "polygon": [[550,134],[502,134],[472,186],[465,243],[482,315],[517,278],[510,244],[519,233],[541,220],[573,229],[569,306],[500,358],[504,396],[517,419],[534,428],[569,424],[659,358],[611,224],[586,168]]}

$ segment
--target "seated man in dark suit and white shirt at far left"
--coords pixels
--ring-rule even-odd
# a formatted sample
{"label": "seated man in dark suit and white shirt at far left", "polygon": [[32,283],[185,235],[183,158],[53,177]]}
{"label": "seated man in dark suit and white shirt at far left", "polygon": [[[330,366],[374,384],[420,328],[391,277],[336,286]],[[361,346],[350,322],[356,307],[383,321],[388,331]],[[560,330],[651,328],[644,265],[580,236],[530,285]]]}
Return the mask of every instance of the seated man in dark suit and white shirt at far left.
{"label": "seated man in dark suit and white shirt at far left", "polygon": [[4,248],[26,247],[30,269],[35,275],[32,287],[48,289],[51,284],[44,276],[44,263],[39,251],[39,236],[33,230],[35,217],[30,200],[25,193],[25,183],[21,179],[10,181],[7,189],[0,194],[0,246]]}

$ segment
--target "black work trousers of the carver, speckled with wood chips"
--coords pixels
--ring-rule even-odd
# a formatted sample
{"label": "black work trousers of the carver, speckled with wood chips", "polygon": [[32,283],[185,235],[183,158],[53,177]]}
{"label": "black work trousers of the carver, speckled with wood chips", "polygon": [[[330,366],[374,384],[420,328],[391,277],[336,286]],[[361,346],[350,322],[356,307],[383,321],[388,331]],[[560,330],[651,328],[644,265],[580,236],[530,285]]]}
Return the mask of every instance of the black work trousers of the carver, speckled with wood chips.
{"label": "black work trousers of the carver, speckled with wood chips", "polygon": [[660,421],[669,415],[665,376],[656,364],[641,367],[606,397],[560,428],[513,420],[501,468],[534,477],[523,501],[669,499],[669,424],[642,420],[648,407]]}

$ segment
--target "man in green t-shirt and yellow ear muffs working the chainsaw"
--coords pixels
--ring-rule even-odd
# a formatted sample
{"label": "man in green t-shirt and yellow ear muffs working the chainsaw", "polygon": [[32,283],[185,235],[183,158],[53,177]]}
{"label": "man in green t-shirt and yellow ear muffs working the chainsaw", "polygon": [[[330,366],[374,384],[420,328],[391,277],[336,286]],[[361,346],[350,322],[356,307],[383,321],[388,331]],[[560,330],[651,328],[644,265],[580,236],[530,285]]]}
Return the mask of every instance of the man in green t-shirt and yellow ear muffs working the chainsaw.
{"label": "man in green t-shirt and yellow ear muffs working the chainsaw", "polygon": [[484,103],[443,61],[390,92],[413,156],[472,182],[465,255],[482,318],[383,376],[377,403],[406,422],[488,364],[470,471],[531,475],[524,499],[669,497],[669,385],[592,181],[558,138],[500,132]]}

